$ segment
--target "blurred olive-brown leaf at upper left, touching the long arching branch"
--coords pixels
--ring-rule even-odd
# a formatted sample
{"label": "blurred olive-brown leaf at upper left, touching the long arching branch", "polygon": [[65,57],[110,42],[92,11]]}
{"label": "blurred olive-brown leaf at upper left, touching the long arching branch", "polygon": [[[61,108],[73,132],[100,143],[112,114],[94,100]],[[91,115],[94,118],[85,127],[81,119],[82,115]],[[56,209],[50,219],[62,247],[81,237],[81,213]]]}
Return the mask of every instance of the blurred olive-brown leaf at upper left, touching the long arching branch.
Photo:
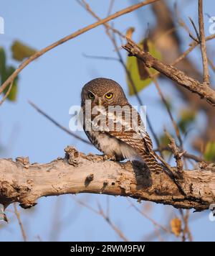
{"label": "blurred olive-brown leaf at upper left, touching the long arching branch", "polygon": [[24,45],[22,42],[14,41],[13,45],[11,46],[12,57],[15,60],[22,61],[24,58],[29,58],[32,56],[37,50]]}

